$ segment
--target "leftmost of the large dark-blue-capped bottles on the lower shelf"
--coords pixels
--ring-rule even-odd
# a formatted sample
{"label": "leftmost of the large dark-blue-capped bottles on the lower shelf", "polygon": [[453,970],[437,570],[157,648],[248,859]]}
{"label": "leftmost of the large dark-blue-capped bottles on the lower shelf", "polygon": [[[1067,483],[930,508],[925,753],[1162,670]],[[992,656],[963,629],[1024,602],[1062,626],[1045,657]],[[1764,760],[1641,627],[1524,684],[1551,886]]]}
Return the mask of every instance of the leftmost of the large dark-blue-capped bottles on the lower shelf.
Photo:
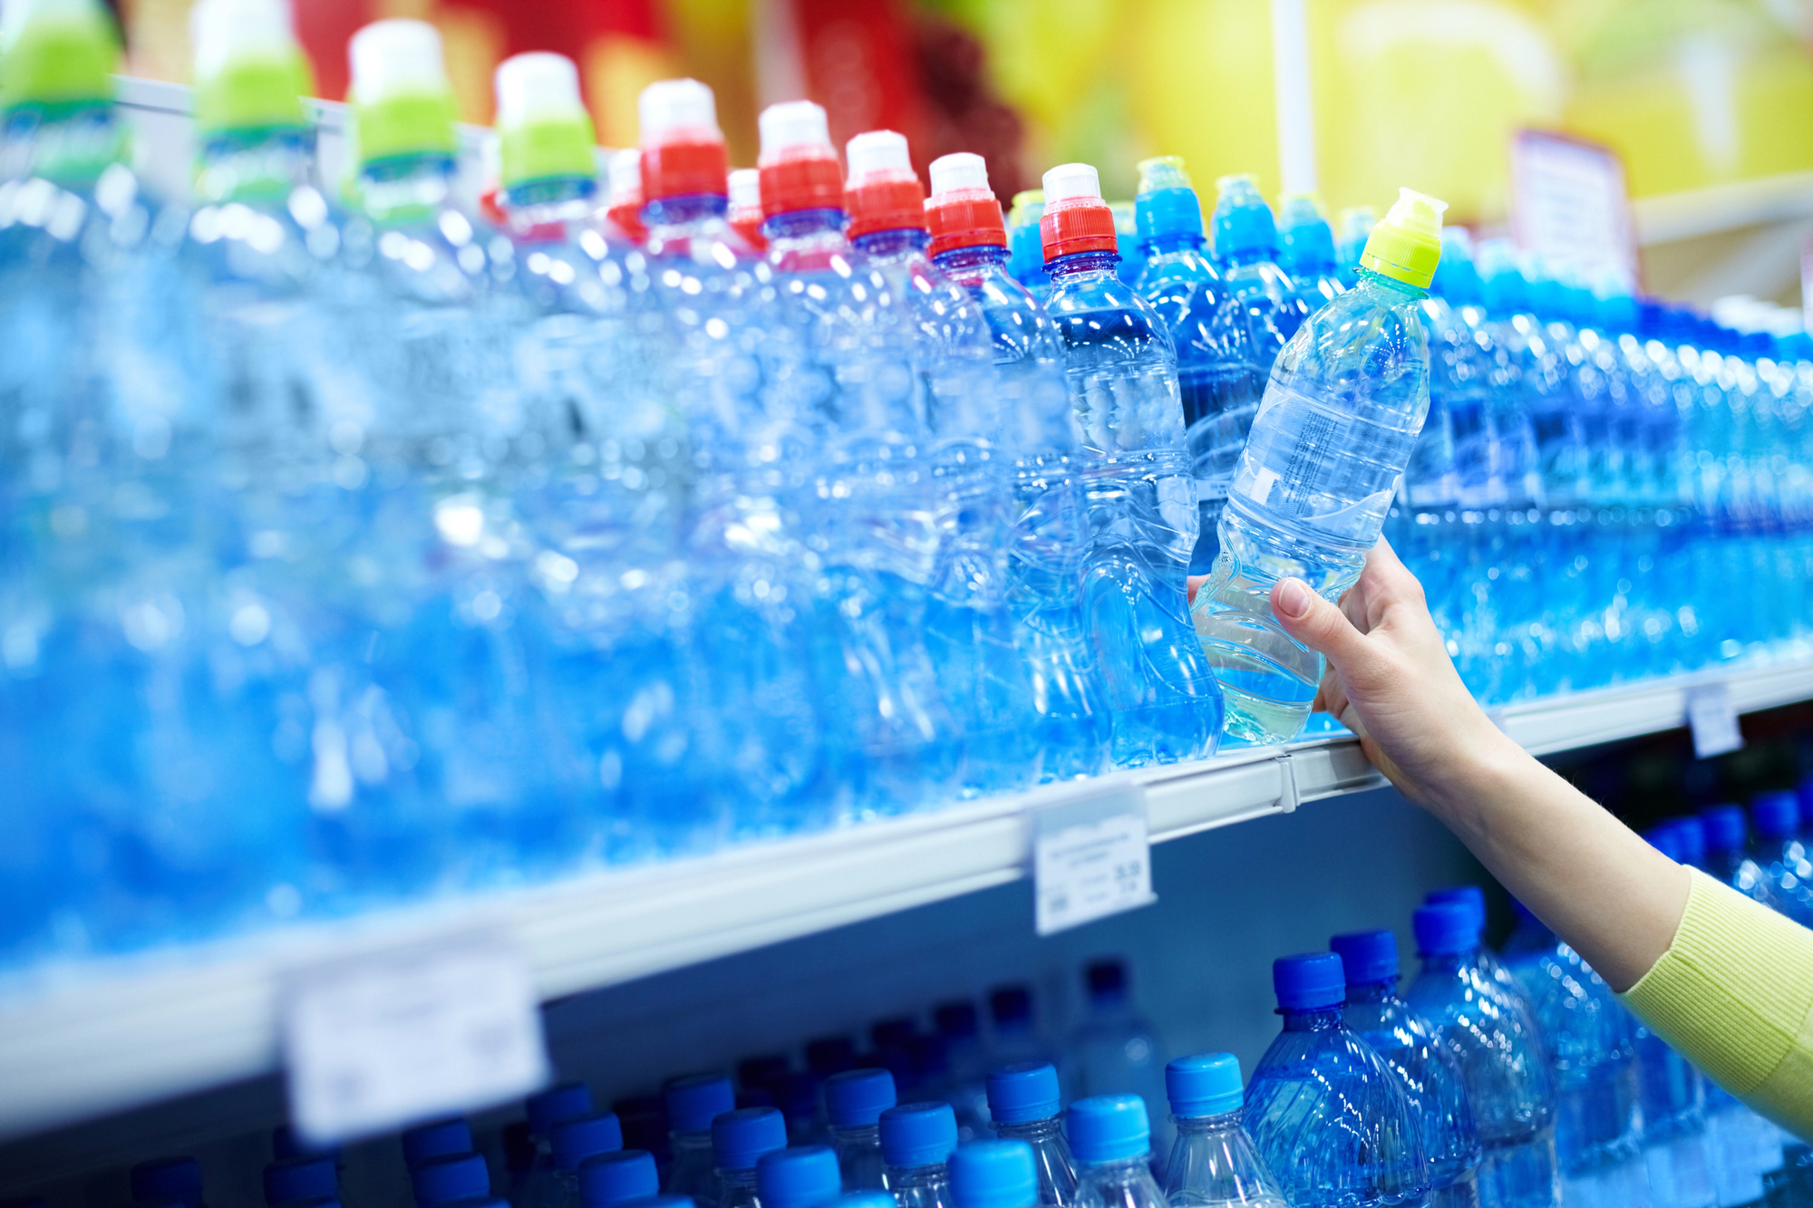
{"label": "leftmost of the large dark-blue-capped bottles on the lower shelf", "polygon": [[1385,1059],[1342,1021],[1342,958],[1273,961],[1284,1030],[1247,1079],[1244,1123],[1293,1208],[1409,1204],[1429,1192],[1423,1121]]}

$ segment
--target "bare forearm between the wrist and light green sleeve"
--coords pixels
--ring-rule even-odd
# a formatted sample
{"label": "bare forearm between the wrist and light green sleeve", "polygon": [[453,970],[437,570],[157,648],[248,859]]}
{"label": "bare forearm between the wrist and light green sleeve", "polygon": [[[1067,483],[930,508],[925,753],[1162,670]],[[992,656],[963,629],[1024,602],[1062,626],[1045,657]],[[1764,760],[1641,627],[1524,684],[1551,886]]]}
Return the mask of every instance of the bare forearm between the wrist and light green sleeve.
{"label": "bare forearm between the wrist and light green sleeve", "polygon": [[1688,871],[1498,731],[1421,796],[1614,990],[1668,950]]}

